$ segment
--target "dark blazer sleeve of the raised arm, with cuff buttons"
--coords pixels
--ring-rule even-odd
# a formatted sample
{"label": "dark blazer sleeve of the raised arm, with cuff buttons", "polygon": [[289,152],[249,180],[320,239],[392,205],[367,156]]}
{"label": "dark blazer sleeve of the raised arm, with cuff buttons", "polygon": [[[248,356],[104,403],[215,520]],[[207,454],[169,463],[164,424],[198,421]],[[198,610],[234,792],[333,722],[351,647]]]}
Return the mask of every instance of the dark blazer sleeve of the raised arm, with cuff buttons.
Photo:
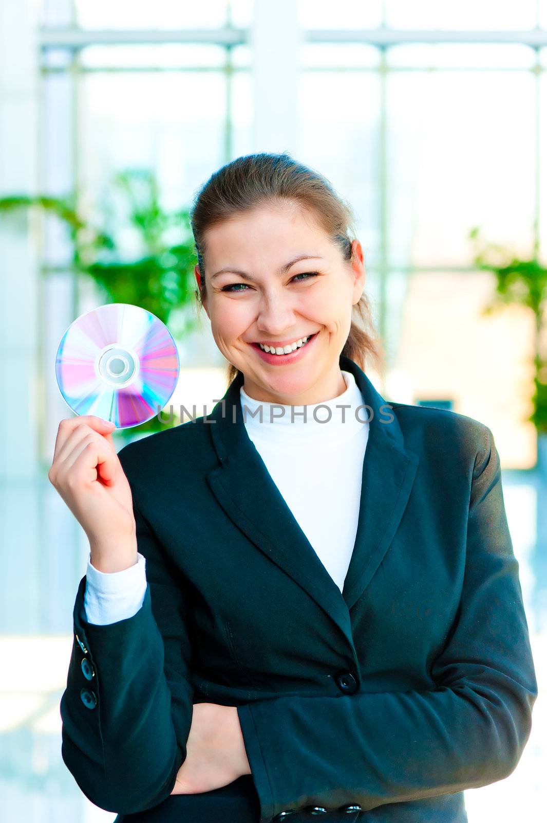
{"label": "dark blazer sleeve of the raised arm, with cuff buttons", "polygon": [[121,814],[154,807],[172,792],[186,759],[193,696],[185,589],[133,507],[146,559],[144,601],[131,617],[94,625],[80,580],[60,704],[62,760],[91,802]]}

